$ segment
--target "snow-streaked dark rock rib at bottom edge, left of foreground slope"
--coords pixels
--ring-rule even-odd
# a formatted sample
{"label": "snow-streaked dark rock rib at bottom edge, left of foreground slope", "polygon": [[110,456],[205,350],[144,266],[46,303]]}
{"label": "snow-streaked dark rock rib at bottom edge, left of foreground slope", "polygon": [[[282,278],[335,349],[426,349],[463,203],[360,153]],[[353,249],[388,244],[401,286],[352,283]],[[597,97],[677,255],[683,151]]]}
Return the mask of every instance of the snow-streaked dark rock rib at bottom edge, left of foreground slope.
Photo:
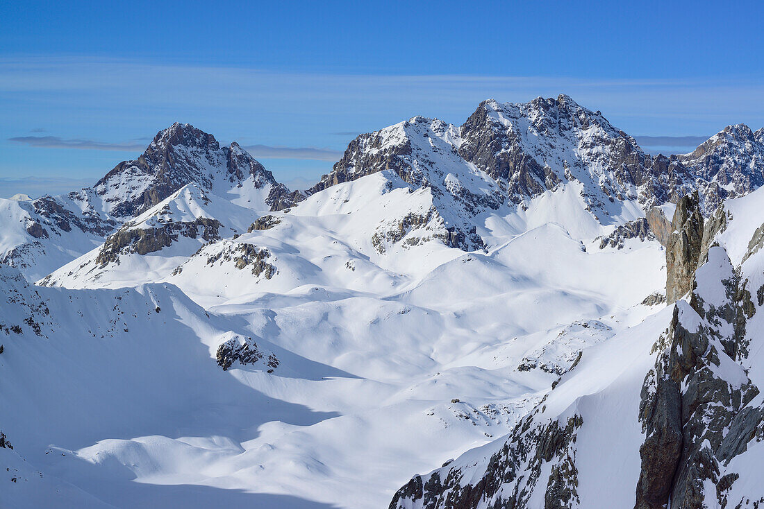
{"label": "snow-streaked dark rock rib at bottom edge, left of foreground slope", "polygon": [[[448,466],[432,472],[426,480],[415,475],[397,491],[390,509],[405,509],[415,503],[426,509],[474,509],[478,505],[529,509],[535,488],[544,489],[545,509],[576,507],[578,470],[574,444],[583,420],[575,415],[564,423],[538,422],[534,417],[540,406],[520,420],[503,448],[490,457],[480,478]],[[548,464],[549,478],[541,478],[542,467]]]}

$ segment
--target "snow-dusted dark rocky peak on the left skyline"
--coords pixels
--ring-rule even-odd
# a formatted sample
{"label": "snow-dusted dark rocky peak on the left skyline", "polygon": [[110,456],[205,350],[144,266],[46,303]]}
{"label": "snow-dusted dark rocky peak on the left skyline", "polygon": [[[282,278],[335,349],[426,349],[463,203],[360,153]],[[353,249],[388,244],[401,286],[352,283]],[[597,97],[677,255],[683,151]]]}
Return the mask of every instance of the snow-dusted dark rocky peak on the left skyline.
{"label": "snow-dusted dark rocky peak on the left skyline", "polygon": [[[255,188],[273,186],[267,204],[274,210],[293,205],[289,190],[238,143],[220,147],[212,134],[175,123],[157,133],[138,159],[115,166],[94,189],[110,204],[112,215],[134,217],[191,182],[211,190],[214,182],[241,186],[249,179],[247,185]],[[128,188],[125,182],[133,183]]]}

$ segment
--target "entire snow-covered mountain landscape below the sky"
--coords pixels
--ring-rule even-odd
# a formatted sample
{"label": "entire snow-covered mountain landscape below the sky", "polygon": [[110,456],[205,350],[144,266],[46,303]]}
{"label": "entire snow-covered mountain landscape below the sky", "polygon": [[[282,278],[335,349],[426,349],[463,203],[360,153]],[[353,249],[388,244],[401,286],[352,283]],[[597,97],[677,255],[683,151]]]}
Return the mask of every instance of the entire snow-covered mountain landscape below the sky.
{"label": "entire snow-covered mountain landscape below the sky", "polygon": [[560,95],[0,200],[0,506],[764,504],[762,158]]}

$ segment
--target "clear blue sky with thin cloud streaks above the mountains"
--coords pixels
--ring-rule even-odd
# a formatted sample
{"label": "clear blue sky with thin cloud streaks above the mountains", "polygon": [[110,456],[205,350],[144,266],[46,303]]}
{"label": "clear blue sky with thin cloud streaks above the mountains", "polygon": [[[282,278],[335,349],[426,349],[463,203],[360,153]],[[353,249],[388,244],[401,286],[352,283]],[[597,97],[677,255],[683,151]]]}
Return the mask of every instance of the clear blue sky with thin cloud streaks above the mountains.
{"label": "clear blue sky with thin cloud streaks above the mountains", "polygon": [[95,180],[173,121],[283,181],[316,179],[356,133],[461,124],[485,98],[566,93],[635,136],[756,129],[762,18],[762,2],[6,0],[0,196]]}

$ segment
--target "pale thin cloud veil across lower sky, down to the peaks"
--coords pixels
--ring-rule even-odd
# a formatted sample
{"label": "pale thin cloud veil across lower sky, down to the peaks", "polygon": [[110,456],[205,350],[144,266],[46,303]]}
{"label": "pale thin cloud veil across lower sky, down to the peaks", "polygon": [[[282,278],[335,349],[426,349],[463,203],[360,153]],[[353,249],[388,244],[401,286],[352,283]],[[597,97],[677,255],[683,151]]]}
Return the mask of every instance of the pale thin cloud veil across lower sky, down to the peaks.
{"label": "pale thin cloud veil across lower sky, down to the peaks", "polygon": [[[58,132],[60,139],[0,143],[4,145],[0,150],[15,151],[12,157],[4,154],[0,159],[0,174],[13,175],[19,162],[45,163],[44,158],[40,163],[24,159],[20,143],[140,151],[144,146],[138,137],[154,134],[178,119],[227,140],[261,143],[251,148],[253,155],[273,158],[274,164],[303,159],[307,167],[312,164],[309,159],[336,161],[354,137],[351,130],[371,132],[417,114],[461,124],[487,98],[517,102],[560,93],[600,110],[627,133],[714,133],[728,124],[743,122],[753,129],[764,125],[764,101],[760,100],[764,82],[756,76],[341,75],[158,65],[116,58],[0,56],[0,140],[29,133],[34,127],[72,123],[72,130]],[[95,141],[102,137],[122,143]],[[72,154],[71,161],[77,167],[93,168],[92,158],[85,155],[85,150]],[[32,170],[61,171],[53,166]]]}

